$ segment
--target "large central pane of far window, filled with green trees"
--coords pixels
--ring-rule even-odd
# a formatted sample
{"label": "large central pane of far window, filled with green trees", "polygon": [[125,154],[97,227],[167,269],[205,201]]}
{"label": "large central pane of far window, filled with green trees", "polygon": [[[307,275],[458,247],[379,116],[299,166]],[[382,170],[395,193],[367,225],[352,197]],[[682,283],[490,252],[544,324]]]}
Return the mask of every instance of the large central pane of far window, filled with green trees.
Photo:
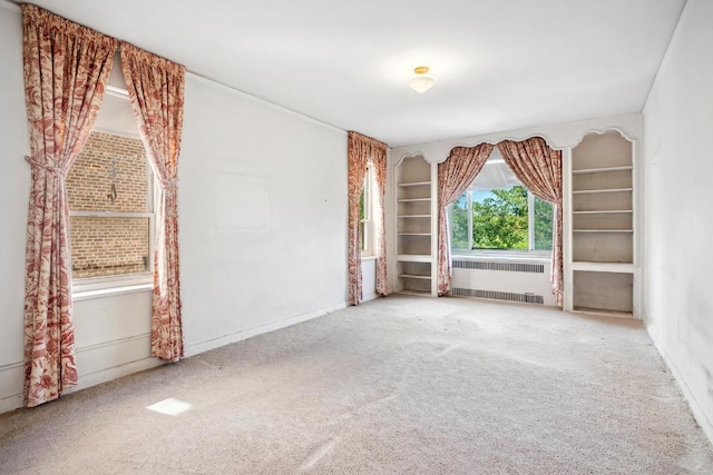
{"label": "large central pane of far window, filled with green trees", "polygon": [[527,249],[527,220],[525,187],[472,192],[473,249]]}

